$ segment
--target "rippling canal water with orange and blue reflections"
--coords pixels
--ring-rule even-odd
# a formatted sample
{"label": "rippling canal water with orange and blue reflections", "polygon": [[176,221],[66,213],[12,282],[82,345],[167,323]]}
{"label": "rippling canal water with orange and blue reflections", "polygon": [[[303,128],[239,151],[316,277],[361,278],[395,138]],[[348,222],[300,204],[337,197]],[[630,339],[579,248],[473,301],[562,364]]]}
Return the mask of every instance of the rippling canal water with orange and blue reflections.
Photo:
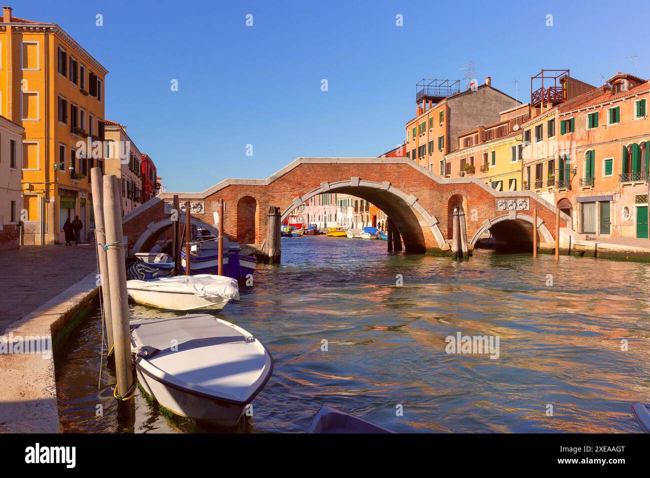
{"label": "rippling canal water with orange and blue reflections", "polygon": [[[650,266],[487,250],[457,263],[385,248],[283,238],[283,264],[260,265],[255,286],[218,313],[275,361],[238,432],[304,432],[321,405],[396,432],[641,432],[630,404],[650,401]],[[498,336],[499,358],[448,354],[458,332]],[[57,353],[64,431],[205,431],[140,392],[135,414],[118,413],[100,337],[96,314]]]}

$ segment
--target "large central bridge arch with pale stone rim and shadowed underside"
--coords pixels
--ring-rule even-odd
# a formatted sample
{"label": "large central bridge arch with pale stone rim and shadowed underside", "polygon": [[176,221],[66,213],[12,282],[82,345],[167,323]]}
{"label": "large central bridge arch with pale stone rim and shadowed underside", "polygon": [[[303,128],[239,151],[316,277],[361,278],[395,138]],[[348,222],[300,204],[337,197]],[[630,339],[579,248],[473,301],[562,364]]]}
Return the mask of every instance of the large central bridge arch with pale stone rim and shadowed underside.
{"label": "large central bridge arch with pale stone rim and shadowed underside", "polygon": [[321,183],[319,187],[309,191],[309,193],[294,198],[291,206],[288,206],[283,211],[280,220],[287,219],[291,211],[314,196],[329,192],[351,194],[368,200],[381,209],[396,224],[402,234],[404,249],[407,253],[422,254],[426,252],[423,228],[430,230],[439,247],[443,247],[447,243],[438,227],[437,218],[426,211],[413,194],[404,193],[404,191],[392,186],[388,181],[378,183],[350,178],[349,181]]}

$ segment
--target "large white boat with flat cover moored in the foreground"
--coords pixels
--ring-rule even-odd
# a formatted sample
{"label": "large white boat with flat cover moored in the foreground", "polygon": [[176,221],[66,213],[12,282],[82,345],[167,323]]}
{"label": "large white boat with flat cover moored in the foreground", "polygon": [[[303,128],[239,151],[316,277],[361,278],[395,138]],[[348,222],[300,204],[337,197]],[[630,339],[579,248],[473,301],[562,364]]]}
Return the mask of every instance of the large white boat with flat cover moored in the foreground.
{"label": "large white boat with flat cover moored in the foreground", "polygon": [[207,314],[131,321],[140,385],[179,416],[232,428],[265,386],[273,358],[250,333]]}

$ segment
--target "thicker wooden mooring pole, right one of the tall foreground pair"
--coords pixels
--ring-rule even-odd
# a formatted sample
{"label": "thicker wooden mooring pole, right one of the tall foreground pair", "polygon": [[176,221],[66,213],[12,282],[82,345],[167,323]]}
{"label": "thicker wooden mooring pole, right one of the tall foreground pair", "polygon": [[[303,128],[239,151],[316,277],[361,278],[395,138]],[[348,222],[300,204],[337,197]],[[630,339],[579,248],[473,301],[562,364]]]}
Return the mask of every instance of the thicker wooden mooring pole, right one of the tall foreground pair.
{"label": "thicker wooden mooring pole, right one of the tall foreground pair", "polygon": [[131,392],[133,369],[131,368],[131,340],[129,333],[129,298],[126,289],[124,262],[124,237],[122,232],[122,207],[118,178],[114,174],[104,176],[104,219],[106,230],[106,256],[110,286],[110,313],[112,315],[115,341],[115,368],[117,394],[120,397]]}

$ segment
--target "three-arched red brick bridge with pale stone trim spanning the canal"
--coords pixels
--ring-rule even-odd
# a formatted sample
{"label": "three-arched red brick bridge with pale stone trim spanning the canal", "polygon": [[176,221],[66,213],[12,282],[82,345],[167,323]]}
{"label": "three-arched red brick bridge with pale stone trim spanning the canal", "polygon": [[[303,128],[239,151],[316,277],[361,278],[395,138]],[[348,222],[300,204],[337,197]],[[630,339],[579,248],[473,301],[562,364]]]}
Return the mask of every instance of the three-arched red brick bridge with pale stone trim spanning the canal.
{"label": "three-arched red brick bridge with pale stone trim spanning the canal", "polygon": [[[225,179],[202,193],[162,193],[123,218],[129,251],[148,252],[172,224],[174,194],[192,203],[192,222],[213,232],[218,200],[225,201],[224,233],[242,244],[261,244],[269,206],[285,219],[294,207],[320,193],[352,194],[385,211],[406,252],[447,250],[454,206],[463,207],[471,246],[489,231],[508,244],[532,246],[532,209],[537,207],[540,246],[555,237],[555,207],[528,191],[498,192],[475,178],[439,178],[407,158],[300,157],[268,179]],[[167,206],[165,205],[167,204]],[[561,214],[560,227],[569,217]]]}

